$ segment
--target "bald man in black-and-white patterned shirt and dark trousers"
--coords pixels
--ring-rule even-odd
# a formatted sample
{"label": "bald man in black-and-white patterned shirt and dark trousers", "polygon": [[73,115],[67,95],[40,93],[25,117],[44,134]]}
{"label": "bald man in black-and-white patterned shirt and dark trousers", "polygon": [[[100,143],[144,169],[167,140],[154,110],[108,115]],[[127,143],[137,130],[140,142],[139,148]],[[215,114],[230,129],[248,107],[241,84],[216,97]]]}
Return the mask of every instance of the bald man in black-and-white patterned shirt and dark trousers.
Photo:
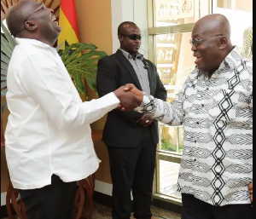
{"label": "bald man in black-and-white patterned shirt and dark trousers", "polygon": [[222,14],[198,20],[190,43],[195,70],[172,104],[143,95],[133,84],[126,87],[143,101],[137,111],[184,126],[182,219],[251,219],[253,62],[231,44]]}

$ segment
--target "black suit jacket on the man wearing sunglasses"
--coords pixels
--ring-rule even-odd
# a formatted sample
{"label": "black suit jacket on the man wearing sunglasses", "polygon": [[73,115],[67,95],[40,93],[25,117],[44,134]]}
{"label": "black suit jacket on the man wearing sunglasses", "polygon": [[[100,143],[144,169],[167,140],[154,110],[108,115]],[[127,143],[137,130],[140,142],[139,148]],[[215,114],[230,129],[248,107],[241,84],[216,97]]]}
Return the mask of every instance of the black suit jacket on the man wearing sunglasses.
{"label": "black suit jacket on the man wearing sunglasses", "polygon": [[[160,81],[156,67],[151,61],[144,59],[143,62],[148,66],[150,95],[166,101],[166,89]],[[96,88],[99,96],[102,96],[125,84],[134,84],[137,89],[143,90],[131,63],[118,49],[115,54],[98,61]],[[146,129],[137,123],[137,119],[142,116],[143,114],[139,112],[122,112],[119,109],[108,112],[102,141],[110,147],[137,147],[141,141],[142,131]],[[148,128],[151,129],[153,141],[157,144],[159,142],[157,121],[154,120]]]}

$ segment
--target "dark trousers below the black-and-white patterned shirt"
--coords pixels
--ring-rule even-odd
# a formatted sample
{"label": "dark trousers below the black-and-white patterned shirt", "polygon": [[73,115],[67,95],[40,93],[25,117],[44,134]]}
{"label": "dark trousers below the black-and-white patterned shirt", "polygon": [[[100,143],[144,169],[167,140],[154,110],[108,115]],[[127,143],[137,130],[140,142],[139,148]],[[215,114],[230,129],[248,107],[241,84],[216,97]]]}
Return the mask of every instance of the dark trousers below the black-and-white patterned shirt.
{"label": "dark trousers below the black-and-white patterned shirt", "polygon": [[214,206],[182,193],[182,219],[253,219],[251,205]]}

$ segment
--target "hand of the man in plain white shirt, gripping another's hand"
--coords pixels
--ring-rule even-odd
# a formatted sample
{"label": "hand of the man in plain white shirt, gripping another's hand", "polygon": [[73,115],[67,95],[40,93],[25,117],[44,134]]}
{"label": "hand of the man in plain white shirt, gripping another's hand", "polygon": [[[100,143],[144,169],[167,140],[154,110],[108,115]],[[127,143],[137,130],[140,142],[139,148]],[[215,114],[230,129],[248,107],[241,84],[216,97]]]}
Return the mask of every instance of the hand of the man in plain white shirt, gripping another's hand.
{"label": "hand of the man in plain white shirt, gripping another's hand", "polygon": [[119,99],[119,108],[122,111],[131,111],[138,107],[142,102],[139,98],[137,98],[136,95],[133,95],[131,92],[125,90],[125,86],[119,87],[119,89],[116,89],[113,91],[113,93]]}

